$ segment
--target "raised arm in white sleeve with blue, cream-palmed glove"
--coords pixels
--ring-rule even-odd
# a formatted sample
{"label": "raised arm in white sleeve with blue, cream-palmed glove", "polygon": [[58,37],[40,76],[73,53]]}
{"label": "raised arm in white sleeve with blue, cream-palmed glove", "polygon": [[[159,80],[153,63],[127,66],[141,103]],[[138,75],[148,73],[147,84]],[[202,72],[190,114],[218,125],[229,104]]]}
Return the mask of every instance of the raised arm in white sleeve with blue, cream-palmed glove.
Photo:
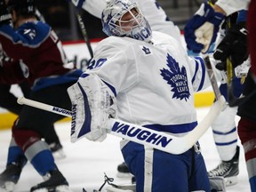
{"label": "raised arm in white sleeve with blue, cream-palmed glove", "polygon": [[215,42],[222,20],[226,15],[246,9],[249,0],[206,1],[195,15],[188,20],[184,28],[184,36],[189,51],[207,52]]}

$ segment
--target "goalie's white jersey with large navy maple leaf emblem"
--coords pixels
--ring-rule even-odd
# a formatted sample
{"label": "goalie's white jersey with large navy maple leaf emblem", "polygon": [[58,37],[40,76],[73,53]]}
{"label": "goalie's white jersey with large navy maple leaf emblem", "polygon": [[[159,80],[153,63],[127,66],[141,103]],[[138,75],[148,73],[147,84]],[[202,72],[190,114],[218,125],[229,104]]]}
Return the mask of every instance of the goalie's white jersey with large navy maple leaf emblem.
{"label": "goalie's white jersey with large navy maple leaf emblem", "polygon": [[164,132],[196,125],[194,92],[209,86],[202,58],[190,58],[172,36],[148,44],[130,37],[102,40],[85,73],[97,73],[116,94],[117,117]]}

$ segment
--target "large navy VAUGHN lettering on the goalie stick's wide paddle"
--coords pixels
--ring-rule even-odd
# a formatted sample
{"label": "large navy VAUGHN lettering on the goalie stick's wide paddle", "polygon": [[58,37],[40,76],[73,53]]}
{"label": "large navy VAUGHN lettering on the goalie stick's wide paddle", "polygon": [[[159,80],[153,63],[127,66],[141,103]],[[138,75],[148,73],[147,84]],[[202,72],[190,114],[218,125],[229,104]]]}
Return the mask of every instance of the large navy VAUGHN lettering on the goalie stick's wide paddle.
{"label": "large navy VAUGHN lettering on the goalie stick's wide paddle", "polygon": [[155,132],[150,132],[145,130],[141,130],[138,127],[130,126],[129,124],[120,124],[116,122],[112,127],[112,132],[122,133],[123,135],[127,135],[129,138],[137,138],[138,140],[145,140],[148,143],[152,143],[156,146],[161,145],[162,147],[166,147],[172,139],[168,139],[165,136],[156,134]]}

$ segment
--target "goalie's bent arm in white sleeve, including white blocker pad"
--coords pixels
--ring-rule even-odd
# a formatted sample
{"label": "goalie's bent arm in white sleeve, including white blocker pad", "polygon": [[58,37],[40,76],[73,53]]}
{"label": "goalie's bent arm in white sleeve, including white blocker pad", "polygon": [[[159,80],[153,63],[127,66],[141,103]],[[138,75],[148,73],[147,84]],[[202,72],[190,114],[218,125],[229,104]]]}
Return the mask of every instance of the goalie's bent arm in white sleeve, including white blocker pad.
{"label": "goalie's bent arm in white sleeve, including white blocker pad", "polygon": [[[136,68],[127,63],[127,56],[122,50],[124,44],[115,42],[115,39],[108,37],[98,44],[84,75],[68,88],[73,106],[73,141],[82,137],[104,140],[108,118],[116,117],[116,94],[131,86],[137,77]],[[125,72],[132,73],[127,75],[130,78],[124,76]]]}

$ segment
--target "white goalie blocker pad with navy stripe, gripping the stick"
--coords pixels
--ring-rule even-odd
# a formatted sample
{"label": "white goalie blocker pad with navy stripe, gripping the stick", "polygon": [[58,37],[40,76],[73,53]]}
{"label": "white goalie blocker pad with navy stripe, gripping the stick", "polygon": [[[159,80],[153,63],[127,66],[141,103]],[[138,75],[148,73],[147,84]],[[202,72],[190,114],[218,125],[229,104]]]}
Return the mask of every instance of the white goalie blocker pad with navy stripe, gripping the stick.
{"label": "white goalie blocker pad with navy stripe, gripping the stick", "polygon": [[72,103],[71,142],[83,137],[105,140],[108,118],[116,117],[116,97],[108,85],[96,74],[84,74],[68,87],[68,95]]}

